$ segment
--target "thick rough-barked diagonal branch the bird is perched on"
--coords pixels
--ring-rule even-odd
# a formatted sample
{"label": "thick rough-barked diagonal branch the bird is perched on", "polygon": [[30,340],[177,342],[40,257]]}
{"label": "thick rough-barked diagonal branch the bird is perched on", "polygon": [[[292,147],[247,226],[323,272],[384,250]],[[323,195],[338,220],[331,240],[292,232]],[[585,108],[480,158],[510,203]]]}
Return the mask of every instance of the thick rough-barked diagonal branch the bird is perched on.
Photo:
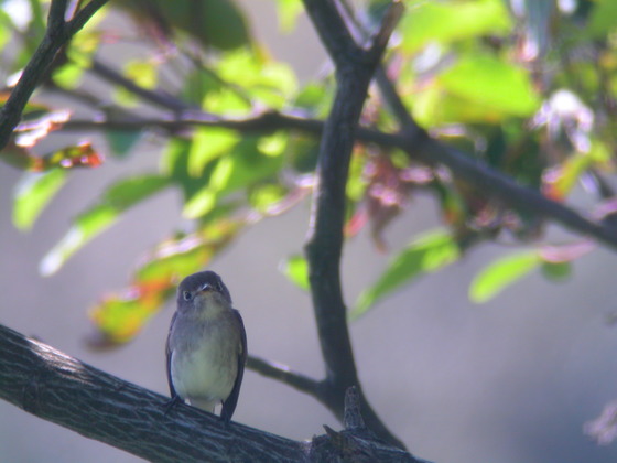
{"label": "thick rough-barked diagonal branch the bird is perched on", "polygon": [[[177,405],[0,325],[0,398],[23,410],[152,462],[340,461],[331,438],[297,442]],[[346,432],[346,431],[344,431]],[[351,435],[353,438],[353,435]],[[377,461],[416,462],[358,434]],[[323,460],[323,459],[326,460]]]}

